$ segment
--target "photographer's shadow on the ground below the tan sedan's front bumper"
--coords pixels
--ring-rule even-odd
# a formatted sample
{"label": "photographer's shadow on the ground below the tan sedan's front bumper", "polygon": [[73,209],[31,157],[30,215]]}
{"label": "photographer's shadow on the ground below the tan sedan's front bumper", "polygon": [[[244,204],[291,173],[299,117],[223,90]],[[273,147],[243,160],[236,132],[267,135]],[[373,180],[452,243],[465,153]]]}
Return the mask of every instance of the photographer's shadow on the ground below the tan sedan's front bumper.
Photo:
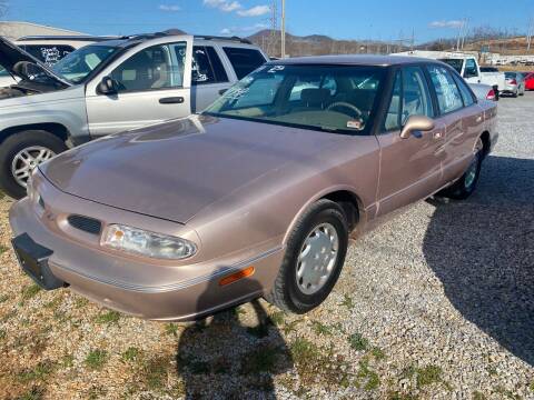
{"label": "photographer's shadow on the ground below the tan sedan's front bumper", "polygon": [[[260,289],[249,283],[253,292]],[[199,297],[197,310],[209,304],[214,286]],[[293,368],[293,358],[261,302],[255,299],[246,309],[218,312],[184,330],[176,368],[186,399],[276,399],[274,378]]]}

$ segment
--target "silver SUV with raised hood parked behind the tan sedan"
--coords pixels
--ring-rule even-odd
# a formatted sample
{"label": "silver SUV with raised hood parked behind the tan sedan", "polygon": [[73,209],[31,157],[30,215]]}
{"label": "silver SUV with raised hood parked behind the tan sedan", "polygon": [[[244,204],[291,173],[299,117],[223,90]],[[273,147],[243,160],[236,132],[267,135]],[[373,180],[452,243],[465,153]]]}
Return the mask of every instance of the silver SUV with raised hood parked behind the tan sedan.
{"label": "silver SUV with raised hood parked behind the tan sedan", "polygon": [[201,111],[268,60],[239,38],[154,33],[86,46],[51,69],[0,38],[0,189],[23,197],[31,170],[91,139]]}

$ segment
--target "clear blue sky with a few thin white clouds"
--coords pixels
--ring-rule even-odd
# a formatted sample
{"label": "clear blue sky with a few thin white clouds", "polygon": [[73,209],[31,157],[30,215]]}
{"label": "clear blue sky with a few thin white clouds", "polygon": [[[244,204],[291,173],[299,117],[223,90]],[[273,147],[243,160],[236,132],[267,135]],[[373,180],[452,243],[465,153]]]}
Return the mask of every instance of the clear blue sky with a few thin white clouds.
{"label": "clear blue sky with a few thin white clouds", "polygon": [[[196,34],[249,36],[270,27],[270,4],[281,0],[8,0],[4,20],[91,34],[131,34],[178,28]],[[468,26],[527,30],[533,0],[286,0],[286,30],[336,39],[454,38]]]}

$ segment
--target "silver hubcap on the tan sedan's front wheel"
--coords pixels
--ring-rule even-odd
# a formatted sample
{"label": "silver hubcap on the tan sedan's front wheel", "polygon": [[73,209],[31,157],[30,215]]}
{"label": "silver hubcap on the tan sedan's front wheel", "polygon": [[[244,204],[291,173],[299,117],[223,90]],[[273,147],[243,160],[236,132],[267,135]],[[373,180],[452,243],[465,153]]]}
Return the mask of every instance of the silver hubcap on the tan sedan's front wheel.
{"label": "silver hubcap on the tan sedan's front wheel", "polygon": [[319,291],[334,271],[339,238],[330,223],[314,228],[304,241],[297,261],[297,286],[305,294]]}

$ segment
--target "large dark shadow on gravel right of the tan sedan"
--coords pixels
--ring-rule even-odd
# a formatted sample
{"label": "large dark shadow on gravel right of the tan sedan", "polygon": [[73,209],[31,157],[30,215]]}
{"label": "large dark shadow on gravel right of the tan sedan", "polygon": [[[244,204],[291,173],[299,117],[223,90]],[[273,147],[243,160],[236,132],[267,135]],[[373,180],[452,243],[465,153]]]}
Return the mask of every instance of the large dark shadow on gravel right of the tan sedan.
{"label": "large dark shadow on gravel right of the tan sedan", "polygon": [[468,200],[433,203],[423,251],[448,300],[534,366],[534,160],[488,157]]}

